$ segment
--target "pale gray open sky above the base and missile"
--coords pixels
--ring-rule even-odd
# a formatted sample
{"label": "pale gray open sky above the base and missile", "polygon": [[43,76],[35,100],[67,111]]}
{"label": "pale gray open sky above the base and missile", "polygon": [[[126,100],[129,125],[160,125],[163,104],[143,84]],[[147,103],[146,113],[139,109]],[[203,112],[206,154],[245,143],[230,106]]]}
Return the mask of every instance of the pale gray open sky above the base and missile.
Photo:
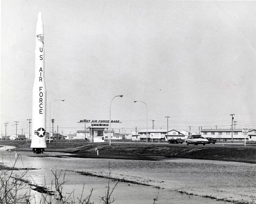
{"label": "pale gray open sky above the base and missile", "polygon": [[[1,133],[32,117],[37,14],[49,107],[64,134],[79,120],[146,128],[256,128],[256,1],[16,1],[1,4]],[[89,126],[90,124],[86,124]],[[124,129],[122,129],[124,128]],[[57,131],[57,128],[54,129]]]}

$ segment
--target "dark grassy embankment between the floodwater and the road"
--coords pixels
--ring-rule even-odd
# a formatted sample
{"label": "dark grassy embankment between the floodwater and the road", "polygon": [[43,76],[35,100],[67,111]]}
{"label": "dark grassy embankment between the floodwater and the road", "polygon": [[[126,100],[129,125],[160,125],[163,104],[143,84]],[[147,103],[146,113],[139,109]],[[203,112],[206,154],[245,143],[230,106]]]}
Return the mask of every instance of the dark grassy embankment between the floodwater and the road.
{"label": "dark grassy embankment between the floodwater and the road", "polygon": [[[16,146],[16,151],[31,151],[30,142],[26,141],[1,141],[0,145]],[[95,152],[99,150],[99,156]],[[73,153],[73,157],[84,158],[115,158],[115,159],[142,159],[151,160],[152,157],[206,159],[220,161],[235,161],[256,163],[256,146],[225,144],[217,146],[208,144],[198,145],[168,145],[168,144],[141,144],[141,143],[86,143],[81,141],[54,141],[47,142],[45,152]]]}

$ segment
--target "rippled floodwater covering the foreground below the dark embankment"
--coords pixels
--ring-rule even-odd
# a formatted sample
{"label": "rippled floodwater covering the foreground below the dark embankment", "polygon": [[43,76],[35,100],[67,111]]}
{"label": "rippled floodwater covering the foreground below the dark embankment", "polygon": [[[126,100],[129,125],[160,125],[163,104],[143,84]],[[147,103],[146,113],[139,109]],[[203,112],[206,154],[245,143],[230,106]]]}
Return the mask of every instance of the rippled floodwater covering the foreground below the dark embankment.
{"label": "rippled floodwater covering the foreground below the dark embankment", "polygon": [[[8,166],[15,161],[13,151],[11,155],[0,151],[0,157]],[[93,189],[94,203],[99,203],[99,196],[105,195],[108,179],[85,176],[83,172],[107,176],[110,170],[111,178],[126,181],[117,184],[113,192],[114,203],[153,203],[158,193],[157,203],[161,204],[223,203],[222,200],[255,203],[256,199],[255,164],[169,158],[159,161],[71,158],[62,153],[49,153],[64,156],[62,158],[29,157],[31,153],[28,152],[19,154],[16,167],[36,168],[28,171],[28,180],[50,187],[54,181],[52,170],[66,171],[65,178],[70,181],[63,188],[65,196],[74,190],[75,197],[80,197],[85,184],[83,195],[89,195]],[[115,183],[112,181],[111,186]]]}

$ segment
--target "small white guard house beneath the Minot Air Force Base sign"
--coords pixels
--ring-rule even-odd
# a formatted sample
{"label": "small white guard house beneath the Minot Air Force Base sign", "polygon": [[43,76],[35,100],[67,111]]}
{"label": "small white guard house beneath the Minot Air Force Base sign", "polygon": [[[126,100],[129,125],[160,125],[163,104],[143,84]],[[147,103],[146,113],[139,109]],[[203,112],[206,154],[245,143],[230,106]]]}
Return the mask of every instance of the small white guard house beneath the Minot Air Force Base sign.
{"label": "small white guard house beneath the Minot Air Force Base sign", "polygon": [[92,142],[105,142],[104,130],[108,128],[108,124],[92,124],[91,130],[91,141]]}

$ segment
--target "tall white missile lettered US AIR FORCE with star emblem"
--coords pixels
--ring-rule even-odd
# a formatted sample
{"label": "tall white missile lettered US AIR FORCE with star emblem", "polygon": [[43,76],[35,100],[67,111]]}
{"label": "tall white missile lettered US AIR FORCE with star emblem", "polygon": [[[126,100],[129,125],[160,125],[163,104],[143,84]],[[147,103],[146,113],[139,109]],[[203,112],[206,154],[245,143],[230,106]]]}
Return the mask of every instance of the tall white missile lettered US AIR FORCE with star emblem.
{"label": "tall white missile lettered US AIR FORCE with star emblem", "polygon": [[44,82],[44,27],[41,12],[36,23],[35,79],[32,93],[32,139],[34,153],[46,148],[46,87]]}

